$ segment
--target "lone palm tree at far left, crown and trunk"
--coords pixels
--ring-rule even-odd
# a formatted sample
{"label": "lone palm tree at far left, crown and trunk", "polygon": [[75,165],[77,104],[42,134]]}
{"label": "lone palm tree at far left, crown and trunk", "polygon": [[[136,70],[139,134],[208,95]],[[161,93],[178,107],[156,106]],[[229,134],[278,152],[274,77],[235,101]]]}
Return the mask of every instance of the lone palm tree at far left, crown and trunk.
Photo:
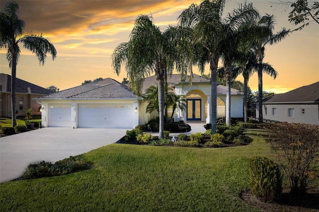
{"label": "lone palm tree at far left, crown and trunk", "polygon": [[0,13],[0,48],[7,48],[6,59],[11,68],[11,114],[12,127],[16,125],[16,64],[20,57],[19,44],[35,53],[40,64],[44,65],[46,54],[52,55],[54,60],[56,50],[53,44],[41,35],[23,35],[25,23],[19,19],[19,5],[12,1],[5,4],[3,11]]}

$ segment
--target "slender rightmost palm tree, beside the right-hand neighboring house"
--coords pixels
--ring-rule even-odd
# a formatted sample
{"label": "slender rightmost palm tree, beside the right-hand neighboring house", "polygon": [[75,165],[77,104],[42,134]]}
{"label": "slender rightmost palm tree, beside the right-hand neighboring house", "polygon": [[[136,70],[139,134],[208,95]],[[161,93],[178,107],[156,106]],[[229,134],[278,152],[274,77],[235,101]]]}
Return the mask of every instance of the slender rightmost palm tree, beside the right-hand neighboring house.
{"label": "slender rightmost palm tree, beside the right-hand neighboring house", "polygon": [[261,18],[257,18],[253,26],[255,30],[253,42],[253,51],[255,52],[258,63],[258,106],[259,106],[259,123],[263,122],[263,59],[265,57],[265,46],[273,45],[284,39],[291,31],[283,28],[281,31],[274,34],[275,17],[274,15],[266,14]]}

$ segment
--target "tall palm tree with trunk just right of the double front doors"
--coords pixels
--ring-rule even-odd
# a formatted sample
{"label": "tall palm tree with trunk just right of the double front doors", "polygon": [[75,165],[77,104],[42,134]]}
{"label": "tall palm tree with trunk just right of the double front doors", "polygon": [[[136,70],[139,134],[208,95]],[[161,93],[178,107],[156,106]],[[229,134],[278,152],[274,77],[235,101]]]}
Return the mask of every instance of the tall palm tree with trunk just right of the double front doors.
{"label": "tall palm tree with trunk just right of the double front doors", "polygon": [[182,26],[193,29],[194,43],[202,47],[205,60],[198,62],[199,70],[203,73],[205,63],[209,63],[211,72],[211,133],[216,132],[217,119],[217,66],[224,43],[230,32],[247,18],[259,17],[252,7],[234,10],[226,19],[222,18],[225,0],[203,0],[199,5],[191,4],[184,9],[178,19]]}

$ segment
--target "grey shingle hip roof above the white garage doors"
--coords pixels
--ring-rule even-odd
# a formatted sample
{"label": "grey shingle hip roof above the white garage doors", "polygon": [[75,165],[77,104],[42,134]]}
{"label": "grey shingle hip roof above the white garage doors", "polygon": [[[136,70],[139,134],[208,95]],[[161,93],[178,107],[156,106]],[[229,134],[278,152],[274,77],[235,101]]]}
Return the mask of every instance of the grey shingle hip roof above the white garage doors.
{"label": "grey shingle hip roof above the white garage doors", "polygon": [[54,99],[137,99],[127,86],[111,78],[87,83],[71,89],[39,97],[41,100]]}

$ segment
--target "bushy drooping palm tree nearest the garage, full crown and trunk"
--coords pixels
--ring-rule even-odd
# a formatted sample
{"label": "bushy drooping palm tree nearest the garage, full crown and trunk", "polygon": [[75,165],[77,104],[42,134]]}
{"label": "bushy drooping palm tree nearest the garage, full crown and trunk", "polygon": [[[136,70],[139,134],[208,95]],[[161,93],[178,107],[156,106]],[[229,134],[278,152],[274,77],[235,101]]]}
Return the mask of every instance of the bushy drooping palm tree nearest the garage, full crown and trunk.
{"label": "bushy drooping palm tree nearest the garage, full crown and trunk", "polygon": [[155,73],[158,80],[160,114],[159,138],[164,126],[164,74],[173,69],[172,49],[169,39],[148,15],[140,15],[134,24],[130,41],[119,44],[112,54],[112,66],[119,75],[121,65],[126,65],[130,88],[141,95],[143,81]]}

